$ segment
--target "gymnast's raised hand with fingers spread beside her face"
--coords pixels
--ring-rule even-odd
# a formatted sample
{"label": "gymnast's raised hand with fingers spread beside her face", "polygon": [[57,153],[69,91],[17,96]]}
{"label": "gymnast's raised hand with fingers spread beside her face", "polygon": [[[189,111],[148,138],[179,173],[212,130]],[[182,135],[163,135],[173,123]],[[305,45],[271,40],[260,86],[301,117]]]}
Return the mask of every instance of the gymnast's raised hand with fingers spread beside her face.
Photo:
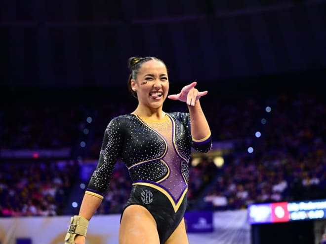
{"label": "gymnast's raised hand with fingers spread beside her face", "polygon": [[193,82],[189,85],[184,86],[181,92],[174,95],[167,96],[172,100],[179,100],[181,102],[186,102],[188,106],[195,106],[195,102],[207,94],[207,91],[199,92],[195,86],[197,82]]}

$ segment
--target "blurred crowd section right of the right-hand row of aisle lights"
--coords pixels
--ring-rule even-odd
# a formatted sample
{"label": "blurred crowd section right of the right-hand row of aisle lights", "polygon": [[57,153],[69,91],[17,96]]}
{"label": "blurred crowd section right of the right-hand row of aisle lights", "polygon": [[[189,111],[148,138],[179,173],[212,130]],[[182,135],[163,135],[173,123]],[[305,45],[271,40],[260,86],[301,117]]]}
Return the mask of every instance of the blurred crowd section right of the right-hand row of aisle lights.
{"label": "blurred crowd section right of the right-hand row of aisle lights", "polygon": [[205,196],[206,208],[326,198],[326,104],[281,96],[254,153],[226,156]]}

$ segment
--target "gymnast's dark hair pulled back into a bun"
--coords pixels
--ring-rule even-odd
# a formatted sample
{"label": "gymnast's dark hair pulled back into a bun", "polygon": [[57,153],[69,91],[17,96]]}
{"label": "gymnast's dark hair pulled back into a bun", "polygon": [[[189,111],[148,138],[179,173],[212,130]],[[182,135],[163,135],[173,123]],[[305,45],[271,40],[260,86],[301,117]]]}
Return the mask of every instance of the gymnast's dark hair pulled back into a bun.
{"label": "gymnast's dark hair pulled back into a bun", "polygon": [[[158,59],[156,57],[145,57],[145,58],[142,58],[142,57],[131,57],[131,58],[128,58],[128,70],[130,70],[130,74],[129,74],[129,78],[128,78],[128,81],[127,81],[127,87],[128,87],[128,90],[131,92],[132,96],[137,98],[137,93],[135,91],[133,91],[131,89],[131,79],[136,79],[137,77],[137,74],[140,70],[140,68],[142,67],[142,65],[147,62],[147,61],[150,61],[150,60],[156,60],[156,61],[160,61],[164,64],[164,62],[161,60],[161,59]],[[165,64],[164,64],[165,65]]]}

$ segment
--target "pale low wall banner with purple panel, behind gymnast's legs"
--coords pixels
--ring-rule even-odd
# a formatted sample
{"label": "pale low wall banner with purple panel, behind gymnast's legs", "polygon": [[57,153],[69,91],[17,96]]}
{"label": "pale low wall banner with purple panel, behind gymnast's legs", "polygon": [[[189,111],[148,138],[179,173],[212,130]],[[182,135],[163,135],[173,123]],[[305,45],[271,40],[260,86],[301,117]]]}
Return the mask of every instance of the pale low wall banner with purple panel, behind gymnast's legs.
{"label": "pale low wall banner with purple panel, behind gymnast's legs", "polygon": [[[71,216],[0,218],[0,244],[63,244]],[[246,210],[186,212],[189,244],[250,244]],[[87,244],[119,243],[120,214],[95,215]]]}

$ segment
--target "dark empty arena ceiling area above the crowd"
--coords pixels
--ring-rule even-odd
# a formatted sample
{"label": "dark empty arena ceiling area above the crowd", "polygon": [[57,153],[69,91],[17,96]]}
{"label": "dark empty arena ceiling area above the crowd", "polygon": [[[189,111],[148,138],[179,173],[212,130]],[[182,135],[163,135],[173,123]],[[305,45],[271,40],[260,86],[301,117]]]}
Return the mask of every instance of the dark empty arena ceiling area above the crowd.
{"label": "dark empty arena ceiling area above the crowd", "polygon": [[163,59],[172,92],[320,93],[325,13],[324,0],[2,0],[2,102],[125,96],[130,56]]}

